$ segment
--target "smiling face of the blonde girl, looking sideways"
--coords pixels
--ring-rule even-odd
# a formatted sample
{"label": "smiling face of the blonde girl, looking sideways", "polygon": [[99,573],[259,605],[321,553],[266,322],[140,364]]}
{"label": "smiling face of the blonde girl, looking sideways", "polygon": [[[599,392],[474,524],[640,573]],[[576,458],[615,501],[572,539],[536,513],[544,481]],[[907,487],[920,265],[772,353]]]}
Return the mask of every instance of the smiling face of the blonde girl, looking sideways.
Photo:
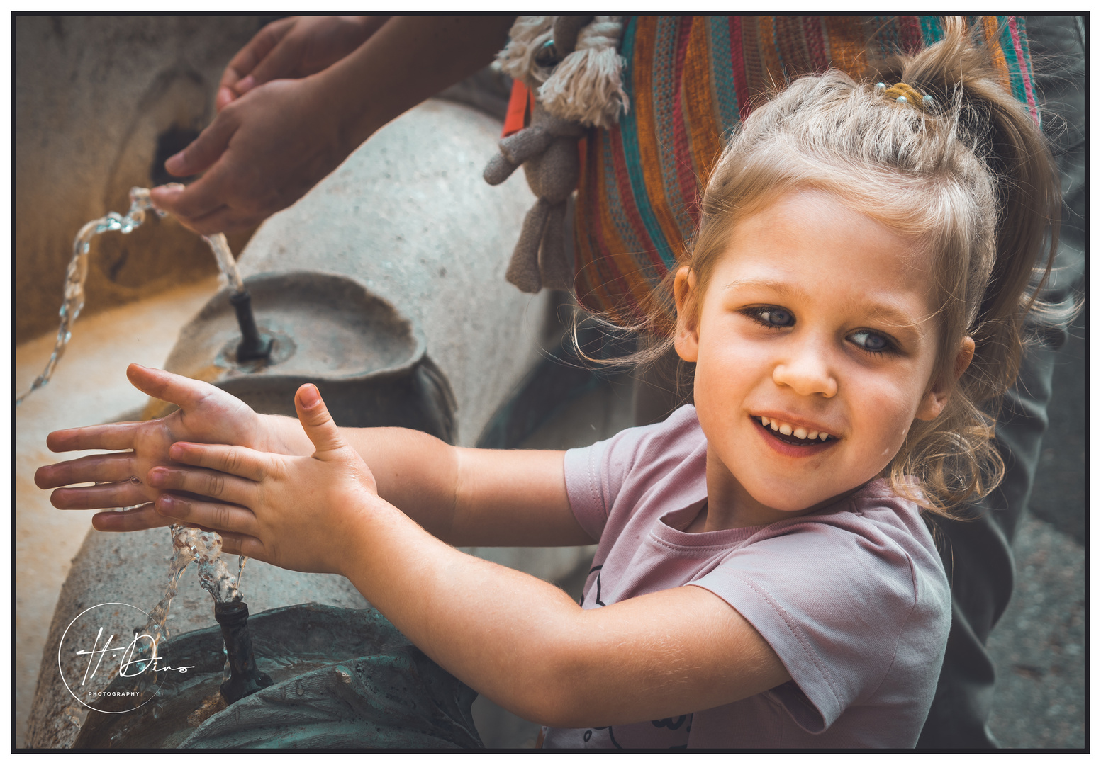
{"label": "smiling face of the blonde girl, looking sideways", "polygon": [[824,506],[877,476],[915,418],[940,413],[927,263],[840,198],[797,192],[738,223],[702,294],[695,273],[677,273],[708,528]]}

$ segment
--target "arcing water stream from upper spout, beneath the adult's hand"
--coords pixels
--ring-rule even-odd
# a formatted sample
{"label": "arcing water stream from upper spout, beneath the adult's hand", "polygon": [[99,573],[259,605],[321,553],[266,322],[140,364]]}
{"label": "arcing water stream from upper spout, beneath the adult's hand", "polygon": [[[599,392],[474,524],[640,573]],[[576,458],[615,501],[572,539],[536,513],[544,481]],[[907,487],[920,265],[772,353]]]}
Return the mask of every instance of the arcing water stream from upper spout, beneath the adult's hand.
{"label": "arcing water stream from upper spout, beneath the adult's hand", "polygon": [[[15,398],[15,406],[22,404],[24,398],[50,382],[50,378],[53,376],[54,370],[57,368],[57,362],[65,353],[65,347],[73,338],[73,324],[84,308],[84,285],[88,280],[88,252],[91,249],[91,240],[103,231],[130,233],[145,222],[145,210],[153,210],[161,218],[167,215],[167,212],[153,207],[148,188],[134,186],[130,189],[130,210],[124,216],[118,212],[108,212],[102,218],[85,223],[76,234],[76,239],[73,240],[73,258],[65,272],[65,298],[62,302],[61,310],[57,312],[62,320],[61,326],[57,327],[57,339],[54,341],[53,353],[50,354],[46,368],[42,374],[35,378],[26,393]],[[228,285],[235,293],[243,292],[244,282],[241,281],[241,274],[237,270],[237,261],[229,249],[229,242],[226,241],[226,234],[216,233],[203,237],[203,241],[214,251],[215,260],[218,261],[218,270],[221,273],[221,283]]]}

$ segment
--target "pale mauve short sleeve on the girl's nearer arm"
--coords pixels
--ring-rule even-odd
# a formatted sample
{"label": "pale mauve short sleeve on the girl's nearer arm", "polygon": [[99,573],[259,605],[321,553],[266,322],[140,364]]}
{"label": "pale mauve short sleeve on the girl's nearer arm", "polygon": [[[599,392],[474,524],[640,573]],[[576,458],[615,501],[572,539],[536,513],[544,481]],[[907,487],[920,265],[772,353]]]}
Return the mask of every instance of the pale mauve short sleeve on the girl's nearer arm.
{"label": "pale mauve short sleeve on the girl's nearer arm", "polygon": [[[749,544],[691,582],[773,647],[794,682],[771,695],[810,733],[875,692],[901,654],[911,676],[939,673],[947,581],[939,561],[915,560],[896,531],[837,513]],[[925,684],[935,685],[935,676]]]}

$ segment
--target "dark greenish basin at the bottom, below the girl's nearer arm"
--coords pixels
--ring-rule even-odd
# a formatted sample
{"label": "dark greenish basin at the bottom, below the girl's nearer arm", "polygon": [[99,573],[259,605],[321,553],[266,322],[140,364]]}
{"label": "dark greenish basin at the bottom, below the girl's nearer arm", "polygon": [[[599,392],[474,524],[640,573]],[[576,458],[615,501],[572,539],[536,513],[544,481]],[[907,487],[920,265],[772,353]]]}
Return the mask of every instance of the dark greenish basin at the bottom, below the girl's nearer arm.
{"label": "dark greenish basin at the bottom, below the girl's nearer arm", "polygon": [[[75,748],[479,748],[477,693],[433,663],[373,609],[308,603],[249,619],[258,668],[274,685],[220,711],[220,627],[168,641],[173,666],[152,702],[91,712]],[[129,680],[132,682],[132,680]],[[117,678],[108,690],[128,687]]]}

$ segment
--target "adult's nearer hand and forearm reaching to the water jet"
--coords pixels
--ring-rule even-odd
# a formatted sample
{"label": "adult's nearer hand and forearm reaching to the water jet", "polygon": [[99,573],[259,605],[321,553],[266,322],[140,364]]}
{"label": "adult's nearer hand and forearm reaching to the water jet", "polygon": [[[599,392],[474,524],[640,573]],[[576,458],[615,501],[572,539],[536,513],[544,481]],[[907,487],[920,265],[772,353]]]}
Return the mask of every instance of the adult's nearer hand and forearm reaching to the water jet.
{"label": "adult's nearer hand and forearm reaching to the water jet", "polygon": [[[153,204],[204,234],[260,223],[383,124],[486,66],[511,23],[509,17],[393,17],[315,74],[252,86],[164,164],[173,175],[203,177],[186,188],[152,189]],[[307,68],[318,61],[308,59]]]}

